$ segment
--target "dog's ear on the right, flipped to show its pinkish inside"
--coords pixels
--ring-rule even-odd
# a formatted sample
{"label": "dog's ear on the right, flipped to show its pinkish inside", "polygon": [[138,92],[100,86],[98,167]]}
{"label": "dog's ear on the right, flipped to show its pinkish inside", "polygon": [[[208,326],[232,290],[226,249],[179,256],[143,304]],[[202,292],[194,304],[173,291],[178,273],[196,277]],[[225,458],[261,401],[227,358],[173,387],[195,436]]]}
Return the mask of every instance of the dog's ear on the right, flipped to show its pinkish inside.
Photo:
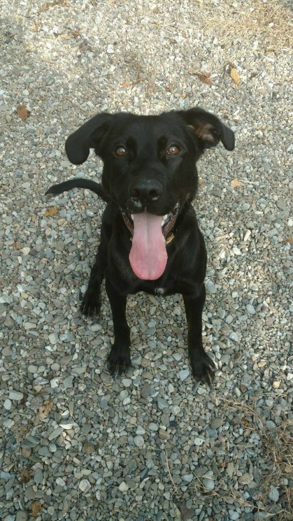
{"label": "dog's ear on the right, flipped to show its pinkish inside", "polygon": [[215,146],[221,140],[227,150],[234,149],[234,132],[213,114],[202,108],[180,110],[179,114],[201,140],[204,148]]}

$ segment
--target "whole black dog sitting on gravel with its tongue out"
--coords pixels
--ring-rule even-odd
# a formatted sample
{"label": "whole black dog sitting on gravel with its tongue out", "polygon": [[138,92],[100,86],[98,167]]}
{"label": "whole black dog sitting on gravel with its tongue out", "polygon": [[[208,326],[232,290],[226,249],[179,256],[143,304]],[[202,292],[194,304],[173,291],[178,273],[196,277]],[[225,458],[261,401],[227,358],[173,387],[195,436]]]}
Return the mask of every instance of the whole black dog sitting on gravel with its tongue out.
{"label": "whole black dog sitting on gravel with its tongue out", "polygon": [[131,365],[126,296],[146,291],[182,293],[192,373],[206,382],[214,376],[202,345],[206,250],[191,201],[198,187],[196,162],[220,140],[233,150],[234,133],[214,115],[192,108],[159,116],[98,114],[66,141],[71,163],[84,163],[90,148],[104,162],[102,185],[72,179],[47,193],[88,188],[108,203],[81,311],[99,312],[105,275],[115,336],[108,356],[112,375]]}

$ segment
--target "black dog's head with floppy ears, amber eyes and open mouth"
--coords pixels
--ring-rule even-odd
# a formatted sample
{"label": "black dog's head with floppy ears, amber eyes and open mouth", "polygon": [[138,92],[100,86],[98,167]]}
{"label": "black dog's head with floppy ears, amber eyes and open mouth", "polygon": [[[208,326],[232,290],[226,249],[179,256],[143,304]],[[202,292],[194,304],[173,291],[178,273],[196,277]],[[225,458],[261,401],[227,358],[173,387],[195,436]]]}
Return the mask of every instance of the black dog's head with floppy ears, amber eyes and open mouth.
{"label": "black dog's head with floppy ears, amber eyes and open mouth", "polygon": [[90,148],[102,158],[103,188],[134,233],[133,244],[145,242],[142,257],[149,240],[160,249],[182,206],[196,194],[198,158],[219,141],[233,150],[234,133],[213,114],[191,108],[158,116],[98,114],[69,136],[65,148],[75,165],[87,160]]}

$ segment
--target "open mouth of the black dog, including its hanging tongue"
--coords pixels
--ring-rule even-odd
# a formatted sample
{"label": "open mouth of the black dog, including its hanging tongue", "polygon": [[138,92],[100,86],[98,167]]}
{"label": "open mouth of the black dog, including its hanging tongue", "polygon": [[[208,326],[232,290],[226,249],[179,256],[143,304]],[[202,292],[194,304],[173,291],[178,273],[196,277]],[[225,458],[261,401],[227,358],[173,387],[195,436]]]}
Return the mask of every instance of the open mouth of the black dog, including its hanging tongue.
{"label": "open mouth of the black dog, including its hanging tongue", "polygon": [[166,238],[179,213],[179,202],[166,215],[149,212],[122,212],[125,224],[132,233],[129,262],[139,279],[156,280],[163,274],[168,256]]}

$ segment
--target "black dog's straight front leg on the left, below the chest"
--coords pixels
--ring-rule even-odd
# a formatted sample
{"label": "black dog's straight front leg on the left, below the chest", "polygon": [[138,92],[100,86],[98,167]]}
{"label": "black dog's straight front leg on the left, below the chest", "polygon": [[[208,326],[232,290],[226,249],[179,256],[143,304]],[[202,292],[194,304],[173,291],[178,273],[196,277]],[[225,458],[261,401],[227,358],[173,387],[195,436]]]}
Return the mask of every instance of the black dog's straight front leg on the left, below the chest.
{"label": "black dog's straight front leg on the left, below the chest", "polygon": [[108,356],[109,371],[119,375],[131,366],[130,329],[126,320],[126,296],[120,295],[106,277],[106,292],[112,309],[114,344]]}

